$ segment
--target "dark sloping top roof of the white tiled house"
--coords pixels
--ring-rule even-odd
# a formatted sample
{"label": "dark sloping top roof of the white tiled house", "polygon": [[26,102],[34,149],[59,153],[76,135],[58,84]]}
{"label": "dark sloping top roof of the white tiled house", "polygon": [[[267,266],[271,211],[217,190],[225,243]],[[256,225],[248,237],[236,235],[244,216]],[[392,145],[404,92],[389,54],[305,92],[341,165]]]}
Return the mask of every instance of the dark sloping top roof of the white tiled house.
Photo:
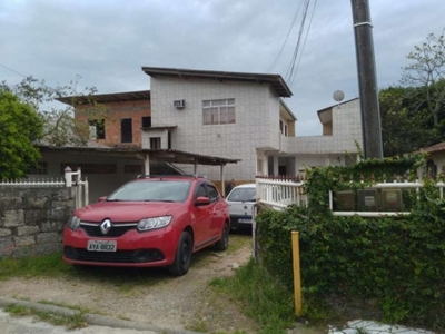
{"label": "dark sloping top roof of the white tiled house", "polygon": [[293,92],[280,75],[207,71],[178,68],[142,67],[150,77],[197,78],[218,81],[247,81],[270,85],[280,97],[291,97]]}

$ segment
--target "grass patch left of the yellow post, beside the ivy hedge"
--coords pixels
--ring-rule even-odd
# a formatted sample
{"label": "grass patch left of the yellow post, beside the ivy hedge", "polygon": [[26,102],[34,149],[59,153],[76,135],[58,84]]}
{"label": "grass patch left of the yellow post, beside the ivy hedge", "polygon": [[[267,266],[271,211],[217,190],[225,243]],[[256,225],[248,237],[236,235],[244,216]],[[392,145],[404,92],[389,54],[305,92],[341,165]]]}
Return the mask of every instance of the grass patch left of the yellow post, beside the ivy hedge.
{"label": "grass patch left of the yellow post, beside the ivy hedge", "polygon": [[295,321],[293,294],[277,284],[254,259],[236,269],[235,276],[216,278],[210,286],[241,304],[247,316],[260,324],[263,334],[283,334]]}

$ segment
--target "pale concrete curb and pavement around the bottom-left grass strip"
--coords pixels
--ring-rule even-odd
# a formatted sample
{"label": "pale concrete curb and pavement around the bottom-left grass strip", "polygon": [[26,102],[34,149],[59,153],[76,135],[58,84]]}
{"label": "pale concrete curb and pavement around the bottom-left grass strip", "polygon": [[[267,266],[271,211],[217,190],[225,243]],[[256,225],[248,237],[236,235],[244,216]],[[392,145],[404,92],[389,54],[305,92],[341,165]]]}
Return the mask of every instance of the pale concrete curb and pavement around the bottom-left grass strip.
{"label": "pale concrete curb and pavement around the bottom-left grass strip", "polygon": [[[62,316],[80,314],[78,310],[0,296],[0,307],[6,307],[11,304]],[[159,328],[150,324],[130,322],[91,313],[83,314],[82,317],[88,323],[88,327],[67,330],[63,326],[56,326],[36,321],[32,316],[11,316],[9,313],[0,310],[0,328],[2,334],[197,334],[196,332]]]}

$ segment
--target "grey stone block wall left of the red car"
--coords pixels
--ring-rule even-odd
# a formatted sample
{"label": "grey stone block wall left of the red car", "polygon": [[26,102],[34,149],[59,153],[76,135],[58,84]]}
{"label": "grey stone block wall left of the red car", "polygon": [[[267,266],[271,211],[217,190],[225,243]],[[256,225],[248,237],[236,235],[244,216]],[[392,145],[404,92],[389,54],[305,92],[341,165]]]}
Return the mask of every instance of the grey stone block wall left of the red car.
{"label": "grey stone block wall left of the red car", "polygon": [[61,250],[75,189],[0,185],[0,258]]}

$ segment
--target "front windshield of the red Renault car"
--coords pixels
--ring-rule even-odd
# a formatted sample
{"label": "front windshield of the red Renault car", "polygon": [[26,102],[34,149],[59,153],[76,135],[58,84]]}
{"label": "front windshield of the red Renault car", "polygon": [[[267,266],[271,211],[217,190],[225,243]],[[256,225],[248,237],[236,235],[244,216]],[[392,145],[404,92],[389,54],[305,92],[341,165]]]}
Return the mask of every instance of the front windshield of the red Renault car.
{"label": "front windshield of the red Renault car", "polygon": [[131,181],[108,196],[107,200],[184,202],[188,196],[190,185],[188,180]]}

